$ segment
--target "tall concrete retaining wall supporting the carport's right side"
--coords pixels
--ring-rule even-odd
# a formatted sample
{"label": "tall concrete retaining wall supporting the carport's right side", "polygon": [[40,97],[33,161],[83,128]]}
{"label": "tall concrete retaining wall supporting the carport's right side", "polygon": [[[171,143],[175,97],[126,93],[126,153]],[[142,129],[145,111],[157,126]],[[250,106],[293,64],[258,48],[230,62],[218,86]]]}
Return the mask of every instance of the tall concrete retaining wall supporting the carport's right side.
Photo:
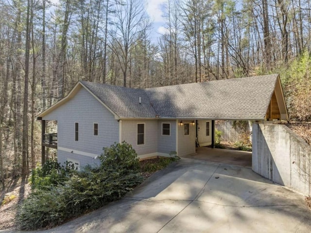
{"label": "tall concrete retaining wall supporting the carport's right side", "polygon": [[285,125],[253,124],[252,169],[311,195],[311,147]]}

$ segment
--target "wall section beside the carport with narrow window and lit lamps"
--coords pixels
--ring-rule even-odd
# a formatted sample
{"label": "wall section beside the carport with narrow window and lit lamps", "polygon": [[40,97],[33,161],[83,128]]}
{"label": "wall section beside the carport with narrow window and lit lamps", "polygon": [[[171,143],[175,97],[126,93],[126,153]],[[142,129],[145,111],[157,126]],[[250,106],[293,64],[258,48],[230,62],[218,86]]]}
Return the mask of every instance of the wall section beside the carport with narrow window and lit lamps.
{"label": "wall section beside the carport with narrow window and lit lamps", "polygon": [[[178,124],[178,156],[195,153],[195,125],[191,125],[190,120],[178,119],[178,123],[183,121],[183,125]],[[184,135],[185,123],[189,123],[189,135]]]}

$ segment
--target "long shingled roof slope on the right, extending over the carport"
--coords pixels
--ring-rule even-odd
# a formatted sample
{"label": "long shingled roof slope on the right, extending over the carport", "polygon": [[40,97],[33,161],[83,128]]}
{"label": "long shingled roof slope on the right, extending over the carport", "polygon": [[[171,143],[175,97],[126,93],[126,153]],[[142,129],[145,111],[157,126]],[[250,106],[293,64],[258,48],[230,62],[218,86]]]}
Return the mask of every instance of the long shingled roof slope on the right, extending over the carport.
{"label": "long shingled roof slope on the right, extending over the carport", "polygon": [[264,119],[278,74],[147,89],[161,117]]}

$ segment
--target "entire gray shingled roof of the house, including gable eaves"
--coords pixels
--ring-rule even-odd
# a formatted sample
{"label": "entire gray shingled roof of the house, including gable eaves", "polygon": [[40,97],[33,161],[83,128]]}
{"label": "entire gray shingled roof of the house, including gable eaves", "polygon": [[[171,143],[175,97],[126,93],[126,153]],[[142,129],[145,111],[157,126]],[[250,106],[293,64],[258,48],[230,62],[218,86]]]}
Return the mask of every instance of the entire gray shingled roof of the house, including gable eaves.
{"label": "entire gray shingled roof of the house, including gable eaves", "polygon": [[68,96],[38,117],[71,99],[84,87],[117,118],[264,120],[276,93],[282,119],[287,119],[278,74],[132,89],[79,81]]}

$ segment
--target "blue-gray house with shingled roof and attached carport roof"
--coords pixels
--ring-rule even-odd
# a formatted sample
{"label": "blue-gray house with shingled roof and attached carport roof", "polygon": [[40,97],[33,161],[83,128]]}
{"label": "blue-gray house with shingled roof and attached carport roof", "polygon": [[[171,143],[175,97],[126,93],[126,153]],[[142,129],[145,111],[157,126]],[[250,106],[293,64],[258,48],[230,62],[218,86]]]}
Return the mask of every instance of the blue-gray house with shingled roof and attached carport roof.
{"label": "blue-gray house with shingled roof and attached carport roof", "polygon": [[[69,94],[40,113],[42,162],[45,147],[58,161],[98,164],[103,147],[130,143],[139,158],[195,153],[213,145],[215,120],[287,119],[278,74],[150,89],[79,81]],[[47,134],[46,121],[57,121]]]}

